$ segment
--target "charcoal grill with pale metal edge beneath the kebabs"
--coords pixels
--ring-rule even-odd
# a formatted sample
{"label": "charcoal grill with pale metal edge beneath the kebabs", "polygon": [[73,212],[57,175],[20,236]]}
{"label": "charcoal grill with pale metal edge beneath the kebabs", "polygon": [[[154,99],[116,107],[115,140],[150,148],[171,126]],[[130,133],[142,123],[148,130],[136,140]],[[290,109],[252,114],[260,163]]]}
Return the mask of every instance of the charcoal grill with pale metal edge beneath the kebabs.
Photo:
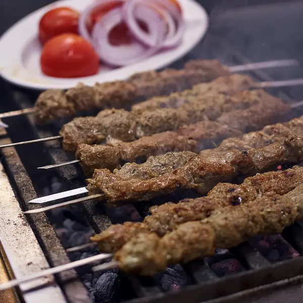
{"label": "charcoal grill with pale metal edge beneath the kebabs", "polygon": [[[192,57],[216,58],[230,66],[251,62],[214,33],[216,28],[204,39],[203,53],[198,46],[191,53]],[[179,61],[173,67],[181,66],[182,61]],[[299,72],[292,69],[283,71],[294,78]],[[261,81],[279,79],[279,75],[264,71],[256,71],[250,76]],[[35,92],[29,93],[15,87],[12,89],[7,83],[1,85],[2,98],[13,101],[0,104],[1,112],[29,108],[37,96]],[[285,102],[293,102],[294,91],[271,90]],[[303,95],[296,94],[297,100],[298,96],[303,98]],[[37,127],[30,116],[11,118],[8,133],[4,130],[0,132],[0,144],[56,135],[64,122]],[[59,141],[3,149],[1,156],[0,192],[3,196],[0,200],[0,226],[7,226],[0,232],[1,251],[7,268],[16,277],[96,254],[96,251],[89,249],[68,255],[66,249],[87,242],[90,235],[104,230],[111,223],[140,221],[148,214],[148,204],[110,209],[102,203],[87,201],[83,205],[31,215],[26,220],[21,210],[36,207],[28,205],[28,200],[84,186],[84,176],[77,165],[42,173],[36,169],[46,164],[72,160],[72,156],[62,150]],[[152,201],[150,205],[154,203],[161,201]],[[303,224],[297,222],[285,229],[282,236],[272,238],[276,245],[280,242],[289,250],[281,258],[266,255],[260,247],[256,249],[262,240],[252,239],[250,243],[243,243],[231,250],[218,249],[214,257],[173,266],[150,278],[125,275],[117,270],[93,275],[89,267],[84,267],[61,273],[55,278],[48,277],[22,285],[18,295],[28,303],[42,300],[56,303],[241,302],[254,295],[261,296],[302,283],[303,263],[301,258],[295,257],[303,254]],[[45,282],[52,283],[44,285]],[[33,287],[34,290],[26,291]]]}

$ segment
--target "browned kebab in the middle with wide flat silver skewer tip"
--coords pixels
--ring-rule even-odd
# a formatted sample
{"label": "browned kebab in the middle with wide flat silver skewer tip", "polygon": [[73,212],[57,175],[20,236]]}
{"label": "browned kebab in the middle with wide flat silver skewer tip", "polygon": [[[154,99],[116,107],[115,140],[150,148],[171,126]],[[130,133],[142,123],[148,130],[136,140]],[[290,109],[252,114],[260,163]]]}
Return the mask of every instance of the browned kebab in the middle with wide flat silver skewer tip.
{"label": "browned kebab in the middle with wide flat silver skewer tip", "polygon": [[[114,173],[108,169],[95,170],[92,178],[87,179],[88,186],[83,188],[89,193],[86,198],[29,212],[42,212],[90,198],[106,200],[108,205],[115,207],[147,201],[176,190],[189,189],[206,194],[219,182],[230,182],[237,176],[255,175],[284,163],[296,164],[303,160],[302,148],[301,138],[287,136],[284,141],[264,147],[219,151],[204,157],[190,151],[149,157],[141,165],[127,163]],[[61,198],[61,194],[65,193],[69,194],[70,191],[29,202],[41,204]]]}

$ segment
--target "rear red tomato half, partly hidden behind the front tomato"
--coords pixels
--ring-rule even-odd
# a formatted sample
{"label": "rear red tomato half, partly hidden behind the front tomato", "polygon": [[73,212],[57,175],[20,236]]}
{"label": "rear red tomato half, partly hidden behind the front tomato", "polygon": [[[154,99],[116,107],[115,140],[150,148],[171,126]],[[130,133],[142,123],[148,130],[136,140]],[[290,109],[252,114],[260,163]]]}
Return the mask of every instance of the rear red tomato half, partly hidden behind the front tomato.
{"label": "rear red tomato half, partly hidden behind the front tomato", "polygon": [[62,7],[48,11],[39,22],[39,40],[47,40],[64,33],[78,33],[80,14],[70,8]]}

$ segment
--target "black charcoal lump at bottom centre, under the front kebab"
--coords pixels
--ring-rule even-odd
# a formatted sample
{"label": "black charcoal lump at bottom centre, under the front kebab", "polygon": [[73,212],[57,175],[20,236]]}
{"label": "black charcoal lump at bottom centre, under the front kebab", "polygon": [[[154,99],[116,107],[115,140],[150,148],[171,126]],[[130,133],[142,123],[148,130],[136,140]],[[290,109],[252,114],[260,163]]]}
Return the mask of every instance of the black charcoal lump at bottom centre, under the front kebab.
{"label": "black charcoal lump at bottom centre, under the front kebab", "polygon": [[160,285],[165,291],[178,289],[191,284],[190,278],[178,264],[167,267],[165,273],[160,274],[158,279],[160,279]]}

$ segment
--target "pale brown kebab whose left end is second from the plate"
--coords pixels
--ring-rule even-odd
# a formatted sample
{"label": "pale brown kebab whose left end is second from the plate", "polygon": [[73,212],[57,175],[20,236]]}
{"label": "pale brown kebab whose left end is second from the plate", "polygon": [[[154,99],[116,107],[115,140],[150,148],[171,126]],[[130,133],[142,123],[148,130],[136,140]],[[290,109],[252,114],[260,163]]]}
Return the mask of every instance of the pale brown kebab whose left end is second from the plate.
{"label": "pale brown kebab whose left end is second from the plate", "polygon": [[[243,116],[242,111],[248,109],[251,112],[247,111]],[[242,111],[238,112],[240,110]],[[232,111],[236,112],[233,123],[230,125],[230,117],[222,114]],[[75,151],[81,143],[100,143],[108,136],[122,141],[133,141],[200,121],[217,120],[222,124],[228,124],[231,128],[236,128],[246,125],[247,116],[258,115],[260,119],[255,118],[257,124],[268,111],[271,112],[271,115],[268,114],[267,117],[270,116],[271,119],[266,124],[276,122],[273,121],[276,120],[274,117],[284,117],[285,119],[285,114],[290,111],[290,106],[264,90],[242,91],[232,96],[216,94],[209,97],[202,96],[201,99],[194,97],[192,102],[185,103],[177,109],[158,109],[144,112],[141,115],[135,115],[125,110],[105,110],[96,117],[75,118],[63,126],[60,135],[63,136],[63,148]],[[252,126],[252,129],[248,127],[246,130],[255,129]]]}

